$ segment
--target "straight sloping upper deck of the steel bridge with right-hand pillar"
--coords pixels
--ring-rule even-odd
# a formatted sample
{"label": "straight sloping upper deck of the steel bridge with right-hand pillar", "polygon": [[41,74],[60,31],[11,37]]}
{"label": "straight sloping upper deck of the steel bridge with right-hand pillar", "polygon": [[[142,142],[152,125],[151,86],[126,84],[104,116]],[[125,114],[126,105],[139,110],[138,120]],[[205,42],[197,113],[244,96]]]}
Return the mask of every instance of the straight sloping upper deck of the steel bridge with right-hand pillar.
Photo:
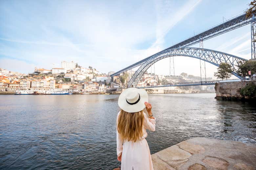
{"label": "straight sloping upper deck of the steel bridge with right-hand pillar", "polygon": [[[226,22],[220,23],[216,26],[213,26],[195,36],[189,37],[188,39],[185,39],[163,51],[160,51],[157,54],[151,55],[135,64],[132,64],[122,70],[117,71],[116,73],[112,74],[111,77],[119,75],[120,73],[130,70],[132,68],[135,68],[137,66],[142,65],[143,63],[147,62],[147,60],[151,59],[151,57],[158,55],[160,53],[165,52],[166,50],[170,50],[170,49],[174,49],[174,48],[181,48],[181,47],[188,47],[191,45],[194,45],[200,41],[206,40],[206,39],[210,39],[213,37],[216,37],[218,35],[224,34],[228,31],[234,30],[236,28],[242,27],[244,25],[247,24],[251,24],[251,58],[255,59],[255,41],[256,41],[256,36],[254,35],[254,33],[256,33],[256,20],[255,20],[255,14],[253,14],[253,16],[251,18],[246,18],[245,17],[246,14],[242,14],[239,16],[236,16],[234,18],[231,18],[229,20],[227,20]],[[224,53],[223,53],[224,54]],[[231,55],[229,55],[231,56]],[[239,58],[239,57],[236,57]],[[234,64],[232,63],[232,65],[234,66]]]}

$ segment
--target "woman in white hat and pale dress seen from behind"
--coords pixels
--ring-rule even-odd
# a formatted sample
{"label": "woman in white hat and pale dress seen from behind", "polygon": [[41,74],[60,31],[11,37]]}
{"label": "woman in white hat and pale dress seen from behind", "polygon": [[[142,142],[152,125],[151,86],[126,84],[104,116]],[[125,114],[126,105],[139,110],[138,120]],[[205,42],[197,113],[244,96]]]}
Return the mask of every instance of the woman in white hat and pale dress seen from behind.
{"label": "woman in white hat and pale dress seen from behind", "polygon": [[145,138],[146,129],[156,130],[156,118],[151,112],[147,92],[127,88],[120,94],[118,106],[121,111],[117,114],[117,160],[121,161],[121,170],[153,170]]}

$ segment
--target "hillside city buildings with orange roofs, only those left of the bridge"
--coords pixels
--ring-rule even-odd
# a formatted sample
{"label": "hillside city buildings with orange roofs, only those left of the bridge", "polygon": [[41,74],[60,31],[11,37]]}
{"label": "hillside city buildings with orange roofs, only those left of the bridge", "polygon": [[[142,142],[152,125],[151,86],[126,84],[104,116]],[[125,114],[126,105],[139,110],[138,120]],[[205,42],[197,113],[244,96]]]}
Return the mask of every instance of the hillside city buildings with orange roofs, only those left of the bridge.
{"label": "hillside city buildings with orange roofs, only those left of the bridge", "polygon": [[[21,74],[0,68],[0,90],[66,89],[105,91],[111,88],[111,77],[95,68],[76,67],[75,62],[61,62],[61,68],[35,68],[31,74]],[[113,71],[112,71],[113,72]]]}

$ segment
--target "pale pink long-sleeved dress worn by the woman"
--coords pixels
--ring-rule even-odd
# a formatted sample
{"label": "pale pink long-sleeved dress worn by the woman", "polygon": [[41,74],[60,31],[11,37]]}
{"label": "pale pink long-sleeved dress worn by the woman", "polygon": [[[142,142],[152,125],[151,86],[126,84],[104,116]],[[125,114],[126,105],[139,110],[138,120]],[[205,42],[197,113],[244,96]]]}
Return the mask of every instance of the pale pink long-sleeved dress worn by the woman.
{"label": "pale pink long-sleeved dress worn by the woman", "polygon": [[[117,114],[117,124],[119,114],[120,112]],[[122,153],[121,170],[154,170],[150,150],[145,138],[147,137],[146,129],[150,131],[156,130],[156,118],[150,119],[145,112],[143,114],[143,136],[140,140],[136,142],[123,141],[117,131],[117,156]]]}

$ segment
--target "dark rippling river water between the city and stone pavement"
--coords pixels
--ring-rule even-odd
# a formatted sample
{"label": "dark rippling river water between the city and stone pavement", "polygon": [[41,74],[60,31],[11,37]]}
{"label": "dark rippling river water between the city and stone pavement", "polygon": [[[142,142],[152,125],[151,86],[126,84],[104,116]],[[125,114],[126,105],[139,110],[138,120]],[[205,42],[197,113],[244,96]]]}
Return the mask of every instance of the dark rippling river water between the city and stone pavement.
{"label": "dark rippling river water between the city and stone pavement", "polygon": [[[151,153],[192,137],[256,143],[254,103],[151,94]],[[0,169],[111,170],[118,95],[0,95]]]}

